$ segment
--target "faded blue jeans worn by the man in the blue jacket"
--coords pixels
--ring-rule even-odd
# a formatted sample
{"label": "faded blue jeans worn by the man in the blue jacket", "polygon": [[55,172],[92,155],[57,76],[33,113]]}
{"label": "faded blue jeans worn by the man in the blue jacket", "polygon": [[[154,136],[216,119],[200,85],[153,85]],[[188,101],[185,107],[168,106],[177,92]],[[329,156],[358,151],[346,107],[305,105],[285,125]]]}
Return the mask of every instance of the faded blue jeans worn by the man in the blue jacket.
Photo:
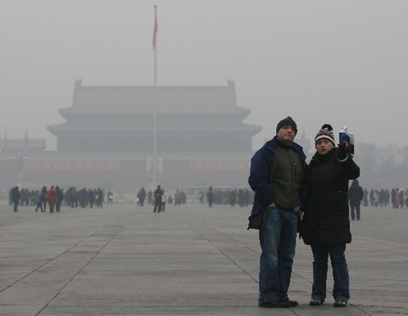
{"label": "faded blue jeans worn by the man in the blue jacket", "polygon": [[259,303],[288,300],[295,257],[297,213],[292,209],[268,208],[259,229],[261,259]]}

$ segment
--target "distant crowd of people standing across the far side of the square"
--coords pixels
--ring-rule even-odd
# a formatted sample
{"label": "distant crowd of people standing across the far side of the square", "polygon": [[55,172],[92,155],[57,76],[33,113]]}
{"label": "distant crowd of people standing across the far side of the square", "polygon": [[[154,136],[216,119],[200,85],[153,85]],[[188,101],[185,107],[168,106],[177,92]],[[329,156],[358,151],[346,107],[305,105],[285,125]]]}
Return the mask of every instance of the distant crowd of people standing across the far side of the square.
{"label": "distant crowd of people standing across the far side of the square", "polygon": [[[358,188],[357,192],[354,192],[354,187]],[[361,190],[361,194],[360,194]],[[55,196],[57,194],[57,197]],[[76,187],[70,187],[68,190],[60,189],[58,186],[42,187],[41,190],[35,189],[20,189],[17,185],[13,187],[9,192],[9,202],[14,205],[14,210],[18,211],[18,206],[36,206],[35,210],[46,211],[47,206],[51,212],[59,212],[61,206],[70,206],[72,208],[96,206],[101,208],[104,202],[105,192],[99,187],[96,189],[82,188],[77,190]],[[186,194],[179,189],[176,189],[173,195],[165,194],[161,188],[161,204],[162,208],[165,204],[173,204],[179,206],[185,204],[187,200]],[[198,194],[199,203],[209,203],[209,206],[214,204],[218,205],[230,205],[247,207],[254,201],[254,194],[249,189],[209,189],[204,194],[204,191],[199,191]],[[145,201],[154,206],[156,204],[156,198],[154,197],[154,191],[145,191],[144,188],[137,191],[136,196],[137,206],[144,206]],[[392,188],[370,191],[366,188],[362,189],[359,186],[358,180],[354,180],[349,189],[349,201],[350,201],[350,217],[354,220],[360,219],[360,203],[361,206],[368,207],[387,207],[392,208],[408,208],[408,189]],[[106,194],[106,203],[113,203],[113,192],[111,190]],[[159,205],[156,206],[156,210],[159,209]],[[354,211],[355,210],[355,211]],[[357,215],[355,215],[357,213]]]}

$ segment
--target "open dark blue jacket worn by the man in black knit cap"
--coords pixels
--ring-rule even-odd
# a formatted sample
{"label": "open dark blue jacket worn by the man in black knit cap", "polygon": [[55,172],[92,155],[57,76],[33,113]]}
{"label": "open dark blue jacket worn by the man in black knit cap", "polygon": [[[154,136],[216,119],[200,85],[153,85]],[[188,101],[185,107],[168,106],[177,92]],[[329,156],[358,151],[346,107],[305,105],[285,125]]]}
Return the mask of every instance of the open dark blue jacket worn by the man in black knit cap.
{"label": "open dark blue jacket worn by the man in black knit cap", "polygon": [[[260,148],[254,156],[251,158],[251,170],[248,179],[249,187],[255,192],[254,205],[252,206],[252,212],[249,216],[248,229],[259,229],[261,221],[264,216],[264,210],[267,206],[271,205],[275,201],[275,192],[273,191],[273,175],[271,175],[271,162],[276,155],[276,148],[278,146],[277,137],[273,137],[262,148]],[[292,149],[295,151],[299,159],[303,163],[303,179],[300,207],[306,203],[306,177],[307,177],[307,163],[306,155],[303,152],[302,146],[299,146],[295,142],[292,142]]]}

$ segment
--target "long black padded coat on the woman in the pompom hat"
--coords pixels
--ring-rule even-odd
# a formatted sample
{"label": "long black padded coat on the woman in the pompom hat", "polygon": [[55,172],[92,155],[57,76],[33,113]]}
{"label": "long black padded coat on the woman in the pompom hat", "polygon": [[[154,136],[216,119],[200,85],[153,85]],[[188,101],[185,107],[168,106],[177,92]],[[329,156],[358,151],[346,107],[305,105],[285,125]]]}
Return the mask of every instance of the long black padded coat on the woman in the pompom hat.
{"label": "long black padded coat on the woman in the pompom hat", "polygon": [[309,164],[309,197],[301,233],[307,245],[352,241],[347,191],[349,179],[357,179],[360,169],[352,158],[340,162],[337,148],[333,151],[327,162],[316,153]]}

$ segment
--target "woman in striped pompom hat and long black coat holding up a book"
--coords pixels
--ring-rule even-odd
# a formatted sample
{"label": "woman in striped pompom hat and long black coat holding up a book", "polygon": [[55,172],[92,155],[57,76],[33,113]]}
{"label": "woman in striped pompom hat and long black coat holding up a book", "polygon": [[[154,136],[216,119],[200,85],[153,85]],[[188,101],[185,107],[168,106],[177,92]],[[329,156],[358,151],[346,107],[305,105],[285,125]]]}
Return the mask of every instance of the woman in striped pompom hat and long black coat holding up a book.
{"label": "woman in striped pompom hat and long black coat holding up a book", "polygon": [[313,285],[310,305],[326,299],[328,256],[333,267],[335,307],[350,298],[346,244],[352,241],[347,191],[349,179],[357,179],[359,167],[345,145],[335,147],[333,127],[323,125],[314,139],[316,153],[309,164],[309,198],[303,216],[302,238],[313,253]]}

